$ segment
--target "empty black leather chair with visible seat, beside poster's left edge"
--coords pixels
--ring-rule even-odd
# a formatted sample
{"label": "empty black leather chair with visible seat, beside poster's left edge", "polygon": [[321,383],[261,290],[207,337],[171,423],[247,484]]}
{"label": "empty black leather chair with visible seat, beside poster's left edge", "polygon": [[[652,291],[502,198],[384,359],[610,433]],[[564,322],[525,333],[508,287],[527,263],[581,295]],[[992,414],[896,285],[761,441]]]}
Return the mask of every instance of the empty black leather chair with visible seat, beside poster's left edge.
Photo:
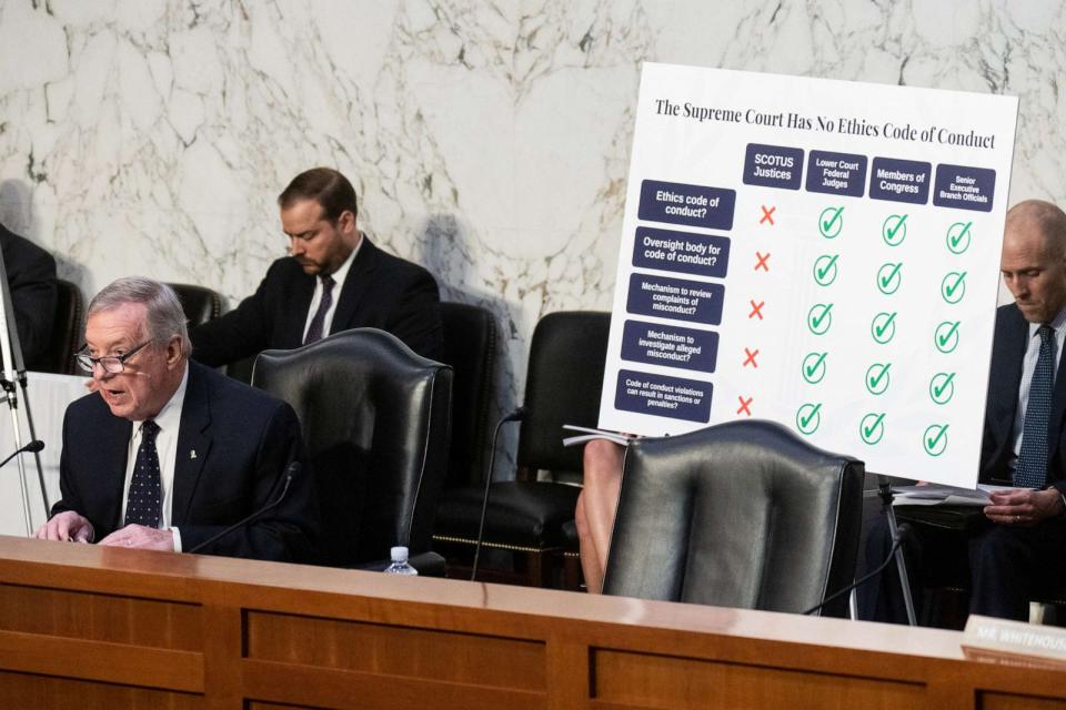
{"label": "empty black leather chair with visible seat, beside poster's left edge", "polygon": [[[490,486],[484,545],[524,560],[525,584],[549,586],[565,542],[563,526],[574,519],[582,449],[562,445],[563,424],[596,426],[611,314],[550,313],[530,345],[525,416],[519,430],[516,480]],[[549,471],[554,480],[537,480]],[[434,537],[472,548],[477,540],[484,483],[445,491]]]}

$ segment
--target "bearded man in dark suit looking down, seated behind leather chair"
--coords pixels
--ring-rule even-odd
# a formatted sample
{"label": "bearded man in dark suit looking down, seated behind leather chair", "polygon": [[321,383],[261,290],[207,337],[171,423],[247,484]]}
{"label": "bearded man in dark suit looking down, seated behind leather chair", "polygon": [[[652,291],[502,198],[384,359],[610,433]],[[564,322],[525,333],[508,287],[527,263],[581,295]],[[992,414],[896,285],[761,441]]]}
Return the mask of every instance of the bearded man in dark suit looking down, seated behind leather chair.
{"label": "bearded man in dark suit looking down, seated behind leather chair", "polygon": [[194,359],[228,365],[359,327],[381,328],[419,355],[438,357],[436,281],[378,248],[355,226],[355,190],[344,175],[329,168],[303,172],[278,204],[289,256],[271,264],[237,308],[191,331]]}

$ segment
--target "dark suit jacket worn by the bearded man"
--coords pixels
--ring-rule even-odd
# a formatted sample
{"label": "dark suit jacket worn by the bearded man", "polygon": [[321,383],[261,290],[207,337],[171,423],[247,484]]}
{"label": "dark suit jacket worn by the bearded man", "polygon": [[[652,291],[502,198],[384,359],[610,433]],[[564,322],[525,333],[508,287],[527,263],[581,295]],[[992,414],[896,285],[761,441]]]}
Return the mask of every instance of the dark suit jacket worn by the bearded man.
{"label": "dark suit jacket worn by the bearded man", "polygon": [[[218,367],[269,348],[300,347],[314,280],[295,260],[279,258],[237,308],[192,328],[192,356]],[[438,357],[442,327],[436,281],[365,236],[344,280],[330,333],[361,327],[388,331],[419,355]]]}

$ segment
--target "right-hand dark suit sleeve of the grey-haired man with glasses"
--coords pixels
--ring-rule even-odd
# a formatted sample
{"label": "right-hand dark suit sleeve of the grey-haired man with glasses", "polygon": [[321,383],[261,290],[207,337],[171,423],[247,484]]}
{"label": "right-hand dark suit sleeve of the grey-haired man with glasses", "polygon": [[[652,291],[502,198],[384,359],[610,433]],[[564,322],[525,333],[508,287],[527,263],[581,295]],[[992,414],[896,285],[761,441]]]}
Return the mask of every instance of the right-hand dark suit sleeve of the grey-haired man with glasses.
{"label": "right-hand dark suit sleeve of the grey-haired man with glasses", "polygon": [[[200,552],[274,561],[310,561],[318,539],[318,499],[310,466],[304,458],[300,423],[292,407],[279,402],[266,426],[260,432],[254,470],[250,473],[248,483],[249,499],[243,506],[245,515],[278,499],[284,487],[285,469],[294,460],[302,463],[302,469],[293,476],[288,494],[276,507]],[[198,525],[195,521],[179,526],[182,549],[191,550],[225,527]]]}

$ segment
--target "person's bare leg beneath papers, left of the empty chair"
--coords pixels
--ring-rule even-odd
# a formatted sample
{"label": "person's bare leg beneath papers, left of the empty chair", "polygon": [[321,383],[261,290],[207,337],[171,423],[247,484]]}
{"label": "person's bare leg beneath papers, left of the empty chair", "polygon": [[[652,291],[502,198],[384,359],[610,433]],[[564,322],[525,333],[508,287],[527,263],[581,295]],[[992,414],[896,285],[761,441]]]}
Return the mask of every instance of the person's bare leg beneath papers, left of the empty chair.
{"label": "person's bare leg beneath papers, left of the empty chair", "polygon": [[603,572],[607,565],[614,515],[619,507],[622,486],[622,460],[625,447],[593,439],[585,444],[584,489],[574,511],[581,540],[581,566],[589,591],[603,589]]}

